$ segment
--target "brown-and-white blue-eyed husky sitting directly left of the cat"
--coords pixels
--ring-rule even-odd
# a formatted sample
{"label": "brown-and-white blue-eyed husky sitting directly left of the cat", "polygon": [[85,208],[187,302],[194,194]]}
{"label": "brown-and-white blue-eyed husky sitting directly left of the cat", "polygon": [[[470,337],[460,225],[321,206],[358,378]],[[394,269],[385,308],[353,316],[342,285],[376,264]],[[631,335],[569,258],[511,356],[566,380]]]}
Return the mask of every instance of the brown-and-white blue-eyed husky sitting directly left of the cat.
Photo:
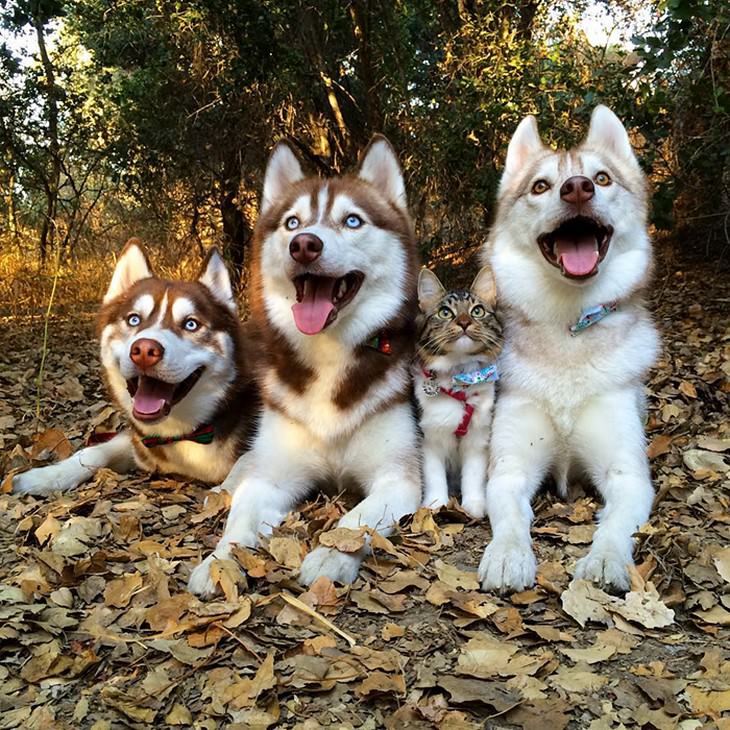
{"label": "brown-and-white blue-eyed husky sitting directly left of the cat", "polygon": [[[211,562],[255,545],[322,482],[364,492],[341,527],[387,532],[418,508],[409,373],[417,273],[403,175],[384,137],[356,174],[331,179],[305,177],[290,147],[274,149],[254,233],[261,428],[222,485],[233,492],[228,522],[191,591],[211,594]],[[300,581],[350,583],[363,553],[319,546]]]}

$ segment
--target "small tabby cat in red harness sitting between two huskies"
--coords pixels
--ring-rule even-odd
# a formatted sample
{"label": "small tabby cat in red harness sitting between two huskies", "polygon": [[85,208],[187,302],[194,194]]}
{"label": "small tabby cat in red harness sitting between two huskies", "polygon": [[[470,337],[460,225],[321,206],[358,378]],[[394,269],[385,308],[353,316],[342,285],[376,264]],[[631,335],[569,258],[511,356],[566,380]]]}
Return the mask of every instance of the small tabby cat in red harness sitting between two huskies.
{"label": "small tabby cat in red harness sitting between two huskies", "polygon": [[461,474],[461,504],[472,517],[486,514],[489,431],[502,325],[497,290],[484,267],[467,290],[447,292],[436,274],[418,277],[421,308],[413,377],[423,431],[423,504],[448,502],[448,472]]}

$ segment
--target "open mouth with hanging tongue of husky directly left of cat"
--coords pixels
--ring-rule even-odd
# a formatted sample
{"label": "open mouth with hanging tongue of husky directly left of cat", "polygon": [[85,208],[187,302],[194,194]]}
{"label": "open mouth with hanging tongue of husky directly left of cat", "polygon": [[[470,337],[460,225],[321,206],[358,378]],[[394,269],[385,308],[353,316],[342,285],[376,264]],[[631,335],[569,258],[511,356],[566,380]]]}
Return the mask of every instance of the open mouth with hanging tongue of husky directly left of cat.
{"label": "open mouth with hanging tongue of husky directly left of cat", "polygon": [[364,279],[361,271],[350,271],[339,277],[295,276],[297,301],[292,305],[292,314],[297,329],[305,335],[316,335],[329,327],[339,311],[353,300]]}

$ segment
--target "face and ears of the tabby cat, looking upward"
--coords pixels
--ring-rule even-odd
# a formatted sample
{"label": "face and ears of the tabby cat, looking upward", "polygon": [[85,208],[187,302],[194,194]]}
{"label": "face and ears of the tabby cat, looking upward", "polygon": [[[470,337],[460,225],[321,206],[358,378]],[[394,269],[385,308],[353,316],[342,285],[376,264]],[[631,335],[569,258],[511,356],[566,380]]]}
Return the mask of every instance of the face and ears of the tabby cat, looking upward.
{"label": "face and ears of the tabby cat, looking upward", "polygon": [[488,267],[479,271],[468,290],[454,291],[446,291],[436,274],[422,269],[418,303],[422,313],[418,349],[424,359],[449,354],[494,359],[502,349],[496,285]]}

